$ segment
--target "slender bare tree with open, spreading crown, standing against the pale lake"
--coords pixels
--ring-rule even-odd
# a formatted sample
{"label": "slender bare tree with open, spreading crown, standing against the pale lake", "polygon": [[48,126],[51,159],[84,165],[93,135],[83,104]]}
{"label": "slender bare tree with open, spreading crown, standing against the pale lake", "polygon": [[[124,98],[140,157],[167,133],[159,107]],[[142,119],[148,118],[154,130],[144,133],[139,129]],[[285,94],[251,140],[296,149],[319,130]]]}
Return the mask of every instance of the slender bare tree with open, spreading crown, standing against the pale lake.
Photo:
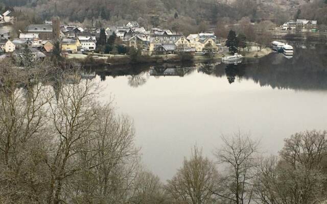
{"label": "slender bare tree with open, spreading crown, standing against the pale lake", "polygon": [[216,157],[220,164],[227,166],[227,172],[214,193],[232,203],[248,204],[253,200],[259,142],[240,132],[230,137],[222,136],[222,140],[224,146],[217,149]]}

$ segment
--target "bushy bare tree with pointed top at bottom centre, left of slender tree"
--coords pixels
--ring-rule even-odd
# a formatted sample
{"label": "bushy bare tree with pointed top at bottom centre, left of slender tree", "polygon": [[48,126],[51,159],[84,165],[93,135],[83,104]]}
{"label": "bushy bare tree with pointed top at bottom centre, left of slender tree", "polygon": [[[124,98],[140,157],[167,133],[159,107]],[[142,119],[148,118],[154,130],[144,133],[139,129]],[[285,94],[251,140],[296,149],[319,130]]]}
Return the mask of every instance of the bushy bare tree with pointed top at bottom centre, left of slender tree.
{"label": "bushy bare tree with pointed top at bottom centre, left of slender tree", "polygon": [[168,181],[166,190],[176,203],[212,203],[212,189],[216,189],[217,178],[214,164],[194,147],[191,159],[184,159],[183,166]]}

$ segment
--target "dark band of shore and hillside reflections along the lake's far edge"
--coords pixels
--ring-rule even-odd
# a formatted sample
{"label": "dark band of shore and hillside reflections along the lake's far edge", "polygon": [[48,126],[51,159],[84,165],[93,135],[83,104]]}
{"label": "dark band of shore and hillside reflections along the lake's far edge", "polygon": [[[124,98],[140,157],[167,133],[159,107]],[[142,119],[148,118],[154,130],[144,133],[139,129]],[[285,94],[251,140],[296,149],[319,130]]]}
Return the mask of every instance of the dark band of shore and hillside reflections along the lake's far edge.
{"label": "dark band of shore and hillside reflections along the lake's far edge", "polygon": [[[307,45],[309,47],[309,45]],[[312,47],[312,46],[311,46]],[[278,89],[327,90],[327,53],[326,46],[314,46],[315,49],[303,49],[297,44],[294,56],[285,58],[283,54],[272,53],[260,59],[245,59],[238,64],[220,62],[142,65],[130,67],[110,67],[108,69],[90,69],[83,78],[101,80],[106,77],[127,76],[128,85],[139,87],[146,84],[149,77],[188,77],[197,70],[218,78],[226,78],[229,84],[236,80],[252,80],[260,86]]]}

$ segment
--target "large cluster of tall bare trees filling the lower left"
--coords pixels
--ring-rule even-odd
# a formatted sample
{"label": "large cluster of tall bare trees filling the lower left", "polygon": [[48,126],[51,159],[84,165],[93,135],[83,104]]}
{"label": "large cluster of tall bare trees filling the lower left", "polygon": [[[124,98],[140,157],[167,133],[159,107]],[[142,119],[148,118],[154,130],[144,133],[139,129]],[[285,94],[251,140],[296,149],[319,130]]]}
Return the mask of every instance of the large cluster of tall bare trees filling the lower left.
{"label": "large cluster of tall bare trees filling the lower left", "polygon": [[0,202],[132,201],[133,123],[97,102],[97,84],[45,64],[5,62],[0,73]]}

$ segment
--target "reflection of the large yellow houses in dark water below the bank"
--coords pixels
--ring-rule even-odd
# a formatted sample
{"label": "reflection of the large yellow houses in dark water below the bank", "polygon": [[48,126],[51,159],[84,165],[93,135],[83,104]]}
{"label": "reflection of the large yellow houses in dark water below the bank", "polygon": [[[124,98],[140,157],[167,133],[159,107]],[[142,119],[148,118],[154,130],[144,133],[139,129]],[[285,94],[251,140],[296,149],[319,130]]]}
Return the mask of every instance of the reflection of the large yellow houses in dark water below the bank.
{"label": "reflection of the large yellow houses in dark water below the bank", "polygon": [[185,74],[194,70],[194,67],[165,67],[165,66],[153,66],[150,68],[151,76],[179,76],[184,77]]}

